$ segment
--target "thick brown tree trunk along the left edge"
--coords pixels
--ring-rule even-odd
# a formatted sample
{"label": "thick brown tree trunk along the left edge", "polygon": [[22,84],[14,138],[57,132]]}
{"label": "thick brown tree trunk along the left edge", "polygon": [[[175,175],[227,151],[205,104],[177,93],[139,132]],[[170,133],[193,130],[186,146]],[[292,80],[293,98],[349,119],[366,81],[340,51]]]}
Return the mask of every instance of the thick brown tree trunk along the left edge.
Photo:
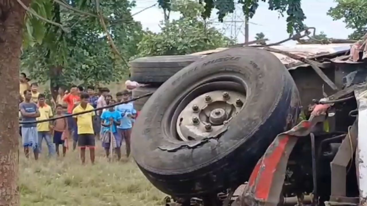
{"label": "thick brown tree trunk along the left edge", "polygon": [[[30,0],[22,0],[25,5]],[[0,0],[0,205],[18,206],[19,65],[25,10]]]}

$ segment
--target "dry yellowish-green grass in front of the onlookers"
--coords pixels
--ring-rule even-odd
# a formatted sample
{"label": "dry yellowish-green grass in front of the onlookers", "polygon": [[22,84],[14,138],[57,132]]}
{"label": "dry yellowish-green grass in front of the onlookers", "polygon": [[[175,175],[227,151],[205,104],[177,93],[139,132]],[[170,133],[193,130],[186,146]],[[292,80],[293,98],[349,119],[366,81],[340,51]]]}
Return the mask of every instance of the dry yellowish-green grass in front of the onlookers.
{"label": "dry yellowish-green grass in front of the onlookers", "polygon": [[95,165],[91,165],[87,155],[85,166],[81,166],[77,150],[69,150],[65,158],[47,158],[47,147],[44,146],[39,160],[34,161],[33,158],[27,160],[21,149],[21,205],[164,205],[163,198],[166,195],[150,184],[132,158],[107,162],[101,144],[97,144]]}

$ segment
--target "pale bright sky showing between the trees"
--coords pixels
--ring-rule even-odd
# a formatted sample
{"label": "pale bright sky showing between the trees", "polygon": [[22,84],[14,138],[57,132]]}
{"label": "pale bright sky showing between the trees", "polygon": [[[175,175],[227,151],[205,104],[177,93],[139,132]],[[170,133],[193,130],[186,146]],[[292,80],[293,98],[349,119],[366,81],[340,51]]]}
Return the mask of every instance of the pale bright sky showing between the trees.
{"label": "pale bright sky showing between the trees", "polygon": [[[155,4],[156,0],[135,0],[137,6],[132,9],[131,13],[141,11],[142,9]],[[306,3],[307,2],[307,3]],[[324,32],[330,38],[347,38],[351,29],[345,28],[345,23],[342,20],[333,21],[333,19],[326,13],[330,7],[334,7],[336,3],[334,0],[303,0],[302,9],[306,15],[304,23],[310,27],[316,27],[316,34]],[[243,12],[240,5],[236,5],[238,8],[235,14],[227,16],[224,23],[217,21],[216,11],[212,11],[211,20],[217,29],[224,33],[228,37],[237,38],[238,43],[244,42],[244,25],[243,25]],[[233,17],[232,17],[233,16]],[[179,18],[179,14],[171,13],[171,19]],[[263,32],[265,37],[269,39],[267,42],[273,43],[288,38],[287,34],[287,16],[279,17],[277,11],[268,10],[268,4],[264,2],[259,3],[259,7],[256,14],[249,20],[249,41],[255,40],[256,33]],[[137,15],[134,15],[135,21],[140,21],[144,29],[149,29],[152,32],[160,31],[160,21],[164,19],[163,10],[155,7],[149,8]],[[237,21],[237,22],[232,22]],[[295,44],[294,41],[287,42],[285,44]]]}

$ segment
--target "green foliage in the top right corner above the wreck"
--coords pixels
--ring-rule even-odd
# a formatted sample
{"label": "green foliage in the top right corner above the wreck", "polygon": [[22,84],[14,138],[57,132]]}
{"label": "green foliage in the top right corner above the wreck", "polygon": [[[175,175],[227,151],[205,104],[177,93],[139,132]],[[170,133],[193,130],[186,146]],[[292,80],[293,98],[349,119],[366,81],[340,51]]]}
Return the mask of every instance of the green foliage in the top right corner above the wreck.
{"label": "green foliage in the top right corner above the wreck", "polygon": [[343,19],[347,28],[355,32],[349,35],[350,39],[358,40],[367,32],[367,0],[335,0],[338,4],[330,8],[328,15],[334,20]]}

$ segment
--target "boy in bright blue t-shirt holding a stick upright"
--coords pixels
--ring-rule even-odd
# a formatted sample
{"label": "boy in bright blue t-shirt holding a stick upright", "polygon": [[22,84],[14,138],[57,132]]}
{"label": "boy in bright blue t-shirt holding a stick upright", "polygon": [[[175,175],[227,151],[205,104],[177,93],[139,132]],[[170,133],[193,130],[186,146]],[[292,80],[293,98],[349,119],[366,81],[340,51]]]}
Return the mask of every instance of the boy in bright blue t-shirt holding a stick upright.
{"label": "boy in bright blue t-shirt holding a stick upright", "polygon": [[[115,103],[116,101],[111,99],[108,104],[110,105]],[[108,110],[103,111],[101,115],[101,125],[103,126],[102,147],[105,148],[107,157],[109,157],[110,155],[110,147],[111,146],[114,147],[115,152],[117,154],[117,158],[119,160],[121,158],[120,147],[122,137],[117,132],[116,126],[121,124],[120,120],[121,120],[121,114],[119,111],[115,110],[115,107],[110,107]],[[114,139],[111,139],[112,136],[114,137]]]}

